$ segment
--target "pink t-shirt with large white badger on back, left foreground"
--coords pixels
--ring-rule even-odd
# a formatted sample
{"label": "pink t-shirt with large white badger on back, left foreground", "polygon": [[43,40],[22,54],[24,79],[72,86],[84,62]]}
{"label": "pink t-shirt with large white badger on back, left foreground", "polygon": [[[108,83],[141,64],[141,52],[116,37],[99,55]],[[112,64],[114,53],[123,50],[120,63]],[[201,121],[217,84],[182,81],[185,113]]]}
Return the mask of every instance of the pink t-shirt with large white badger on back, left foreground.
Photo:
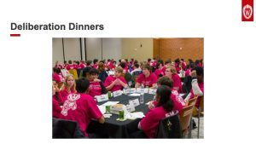
{"label": "pink t-shirt with large white badger on back, left foreground", "polygon": [[96,101],[90,95],[78,94],[68,96],[64,102],[60,118],[77,121],[84,135],[90,120],[92,118],[99,119],[102,117],[102,112],[96,106]]}

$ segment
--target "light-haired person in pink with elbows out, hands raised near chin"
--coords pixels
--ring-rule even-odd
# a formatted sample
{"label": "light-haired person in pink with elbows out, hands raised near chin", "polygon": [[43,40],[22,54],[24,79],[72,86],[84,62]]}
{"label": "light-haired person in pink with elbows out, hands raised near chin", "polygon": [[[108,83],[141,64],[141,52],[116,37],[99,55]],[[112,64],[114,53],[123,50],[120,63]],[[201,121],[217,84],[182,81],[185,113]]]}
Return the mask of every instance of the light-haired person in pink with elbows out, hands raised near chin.
{"label": "light-haired person in pink with elbows out, hands raised near chin", "polygon": [[123,68],[120,66],[115,67],[114,75],[108,76],[105,80],[105,87],[108,91],[117,91],[127,87],[125,78],[122,76]]}

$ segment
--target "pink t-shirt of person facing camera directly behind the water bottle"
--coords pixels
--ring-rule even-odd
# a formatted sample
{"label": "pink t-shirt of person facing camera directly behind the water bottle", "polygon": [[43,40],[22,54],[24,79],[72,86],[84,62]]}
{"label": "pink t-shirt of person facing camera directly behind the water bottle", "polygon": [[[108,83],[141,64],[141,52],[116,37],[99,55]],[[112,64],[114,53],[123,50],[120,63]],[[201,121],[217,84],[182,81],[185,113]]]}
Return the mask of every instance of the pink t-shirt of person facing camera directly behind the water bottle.
{"label": "pink t-shirt of person facing camera directly behind the water bottle", "polygon": [[142,73],[137,78],[137,83],[143,84],[144,86],[152,87],[153,84],[157,83],[157,76],[154,73],[150,73],[149,77],[146,78]]}

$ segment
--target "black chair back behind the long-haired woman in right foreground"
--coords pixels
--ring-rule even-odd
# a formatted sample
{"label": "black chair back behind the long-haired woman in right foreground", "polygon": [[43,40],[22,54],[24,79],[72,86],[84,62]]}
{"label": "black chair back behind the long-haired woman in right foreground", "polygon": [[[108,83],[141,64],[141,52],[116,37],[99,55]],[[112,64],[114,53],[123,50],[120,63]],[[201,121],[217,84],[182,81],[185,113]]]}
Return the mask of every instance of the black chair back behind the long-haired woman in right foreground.
{"label": "black chair back behind the long-haired woman in right foreground", "polygon": [[163,118],[160,121],[155,138],[181,138],[181,124],[178,118],[178,112],[170,117]]}

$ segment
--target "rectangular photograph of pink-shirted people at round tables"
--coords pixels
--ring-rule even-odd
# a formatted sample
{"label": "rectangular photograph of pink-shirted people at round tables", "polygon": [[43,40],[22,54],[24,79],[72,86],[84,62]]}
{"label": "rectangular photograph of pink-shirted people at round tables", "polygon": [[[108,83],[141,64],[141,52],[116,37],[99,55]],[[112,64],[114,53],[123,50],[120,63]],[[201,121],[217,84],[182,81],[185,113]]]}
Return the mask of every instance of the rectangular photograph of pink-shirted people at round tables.
{"label": "rectangular photograph of pink-shirted people at round tables", "polygon": [[53,37],[51,65],[53,139],[204,139],[204,37]]}

